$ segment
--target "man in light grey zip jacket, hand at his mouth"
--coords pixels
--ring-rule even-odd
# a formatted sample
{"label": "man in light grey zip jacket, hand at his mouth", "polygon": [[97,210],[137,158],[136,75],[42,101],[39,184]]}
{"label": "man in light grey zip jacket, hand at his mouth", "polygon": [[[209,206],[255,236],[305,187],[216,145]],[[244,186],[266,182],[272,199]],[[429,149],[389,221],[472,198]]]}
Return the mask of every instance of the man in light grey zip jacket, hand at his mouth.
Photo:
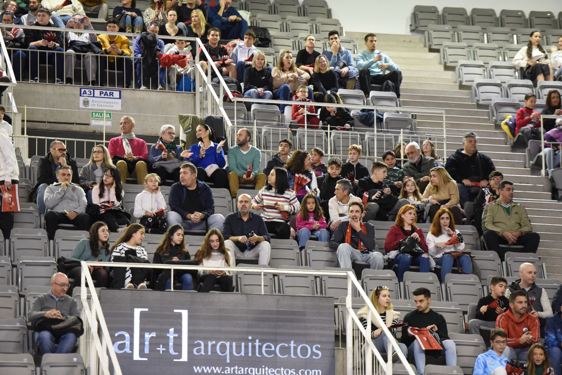
{"label": "man in light grey zip jacket, hand at his mouth", "polygon": [[45,190],[45,228],[49,240],[55,238],[60,224],[72,224],[81,231],[90,230],[90,217],[86,214],[86,194],[80,186],[72,184],[72,169],[62,165],[57,169],[58,182]]}

